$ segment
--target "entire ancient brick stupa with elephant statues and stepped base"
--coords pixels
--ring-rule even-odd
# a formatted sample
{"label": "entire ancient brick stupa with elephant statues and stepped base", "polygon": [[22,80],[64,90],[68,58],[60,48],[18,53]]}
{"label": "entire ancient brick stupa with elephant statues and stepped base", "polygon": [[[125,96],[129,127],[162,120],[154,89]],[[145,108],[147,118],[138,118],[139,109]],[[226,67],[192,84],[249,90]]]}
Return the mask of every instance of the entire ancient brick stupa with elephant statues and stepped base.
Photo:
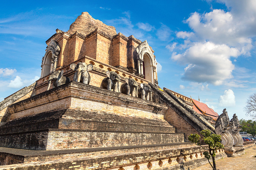
{"label": "entire ancient brick stupa with elephant statues and stepped base", "polygon": [[83,12],[46,44],[41,78],[0,103],[0,169],[187,169],[207,162],[188,135],[214,127],[160,88],[147,41],[116,34]]}

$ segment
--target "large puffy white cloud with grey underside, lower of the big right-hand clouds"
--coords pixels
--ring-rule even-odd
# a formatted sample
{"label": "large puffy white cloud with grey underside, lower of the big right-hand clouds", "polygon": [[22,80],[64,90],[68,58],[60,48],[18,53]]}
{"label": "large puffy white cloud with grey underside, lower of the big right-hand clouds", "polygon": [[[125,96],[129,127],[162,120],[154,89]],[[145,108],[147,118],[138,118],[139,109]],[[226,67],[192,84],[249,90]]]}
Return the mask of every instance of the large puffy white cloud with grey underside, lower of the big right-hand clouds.
{"label": "large puffy white cloud with grey underside, lower of the big right-hand clouds", "polygon": [[221,85],[224,80],[232,78],[231,73],[235,66],[230,61],[230,57],[238,55],[239,51],[236,48],[230,48],[225,44],[196,42],[183,54],[174,53],[171,58],[187,65],[183,79]]}

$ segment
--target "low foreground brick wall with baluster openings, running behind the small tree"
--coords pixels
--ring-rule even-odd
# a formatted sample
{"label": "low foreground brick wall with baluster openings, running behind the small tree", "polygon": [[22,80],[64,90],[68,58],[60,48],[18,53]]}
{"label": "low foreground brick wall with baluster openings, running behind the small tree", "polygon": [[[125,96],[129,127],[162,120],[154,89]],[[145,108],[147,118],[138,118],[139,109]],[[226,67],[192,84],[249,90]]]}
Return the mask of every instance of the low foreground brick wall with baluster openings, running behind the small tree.
{"label": "low foreground brick wall with baluster openings, running behind the small tree", "polygon": [[[200,146],[151,150],[149,152],[130,152],[117,153],[114,155],[96,155],[77,159],[60,159],[55,161],[42,161],[34,163],[24,163],[17,165],[0,166],[0,170],[4,169],[186,169],[188,167],[196,167],[206,164],[208,161],[202,154],[203,149]],[[217,153],[216,159],[226,157],[223,150]]]}

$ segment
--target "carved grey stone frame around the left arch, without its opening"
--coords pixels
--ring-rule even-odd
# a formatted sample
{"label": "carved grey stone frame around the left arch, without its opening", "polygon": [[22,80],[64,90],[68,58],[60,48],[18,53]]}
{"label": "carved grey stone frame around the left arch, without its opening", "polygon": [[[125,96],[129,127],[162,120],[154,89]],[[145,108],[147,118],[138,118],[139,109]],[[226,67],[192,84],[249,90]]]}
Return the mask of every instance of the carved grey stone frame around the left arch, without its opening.
{"label": "carved grey stone frame around the left arch, without its opening", "polygon": [[56,41],[54,41],[54,40],[52,40],[51,39],[51,41],[50,41],[50,44],[48,45],[48,47],[46,48],[46,51],[45,51],[45,54],[44,54],[44,56],[43,56],[43,58],[42,58],[42,65],[41,65],[41,67],[42,67],[42,72],[41,72],[41,78],[42,77],[44,77],[44,76],[46,76],[46,75],[44,75],[44,66],[45,66],[45,64],[46,64],[46,57],[47,57],[47,55],[49,54],[49,52],[52,52],[52,62],[51,62],[51,70],[50,70],[50,73],[52,73],[53,71],[55,71],[55,69],[56,69],[56,66],[57,66],[57,62],[58,62],[58,56],[59,56],[59,54],[60,54],[60,46],[59,46],[59,44],[56,42]]}

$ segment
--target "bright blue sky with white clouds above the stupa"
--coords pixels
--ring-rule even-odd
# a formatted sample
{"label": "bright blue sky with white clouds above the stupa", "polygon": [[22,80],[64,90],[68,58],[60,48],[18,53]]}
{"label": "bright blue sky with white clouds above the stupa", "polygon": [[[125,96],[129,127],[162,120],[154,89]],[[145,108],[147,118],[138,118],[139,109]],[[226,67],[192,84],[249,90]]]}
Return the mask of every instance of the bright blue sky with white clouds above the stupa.
{"label": "bright blue sky with white clouds above the stupa", "polygon": [[45,41],[87,11],[148,41],[161,87],[251,119],[243,107],[256,91],[255,0],[5,1],[0,11],[0,101],[40,77]]}

